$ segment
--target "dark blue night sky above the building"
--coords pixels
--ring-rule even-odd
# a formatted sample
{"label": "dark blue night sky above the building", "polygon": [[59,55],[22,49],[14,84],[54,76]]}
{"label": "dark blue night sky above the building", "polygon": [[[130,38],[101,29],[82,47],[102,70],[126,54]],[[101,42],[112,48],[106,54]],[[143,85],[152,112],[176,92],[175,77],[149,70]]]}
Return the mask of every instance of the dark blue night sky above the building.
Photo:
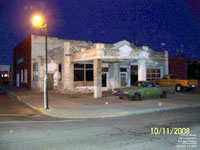
{"label": "dark blue night sky above the building", "polygon": [[123,39],[171,55],[200,59],[199,0],[0,0],[0,64],[12,63],[12,49],[45,16],[48,35],[114,43]]}

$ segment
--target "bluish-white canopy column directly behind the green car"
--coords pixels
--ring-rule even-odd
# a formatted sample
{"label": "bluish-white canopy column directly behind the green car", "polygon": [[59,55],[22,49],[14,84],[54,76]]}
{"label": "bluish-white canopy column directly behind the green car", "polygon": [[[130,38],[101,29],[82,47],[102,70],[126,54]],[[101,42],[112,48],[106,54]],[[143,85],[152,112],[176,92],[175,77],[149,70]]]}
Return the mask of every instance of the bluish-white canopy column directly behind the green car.
{"label": "bluish-white canopy column directly behind the green car", "polygon": [[147,80],[147,69],[145,59],[138,60],[138,81]]}

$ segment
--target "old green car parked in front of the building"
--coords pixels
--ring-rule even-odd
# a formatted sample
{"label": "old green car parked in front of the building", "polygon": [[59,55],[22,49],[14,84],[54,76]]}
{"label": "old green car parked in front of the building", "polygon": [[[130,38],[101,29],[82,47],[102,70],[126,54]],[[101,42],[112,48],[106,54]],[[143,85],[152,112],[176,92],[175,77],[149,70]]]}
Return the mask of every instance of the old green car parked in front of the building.
{"label": "old green car parked in front of the building", "polygon": [[114,91],[115,95],[118,95],[120,99],[128,98],[130,100],[142,100],[143,98],[155,96],[166,98],[167,94],[174,91],[174,87],[158,86],[153,81],[139,81],[137,86],[119,88]]}

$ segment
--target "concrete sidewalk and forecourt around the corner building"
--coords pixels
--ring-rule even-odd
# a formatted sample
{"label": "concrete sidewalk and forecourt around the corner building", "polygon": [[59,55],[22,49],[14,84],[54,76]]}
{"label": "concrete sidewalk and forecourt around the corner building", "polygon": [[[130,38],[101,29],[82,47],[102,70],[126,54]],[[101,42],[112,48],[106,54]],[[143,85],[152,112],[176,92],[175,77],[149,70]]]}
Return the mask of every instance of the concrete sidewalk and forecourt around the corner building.
{"label": "concrete sidewalk and forecourt around the corner building", "polygon": [[92,94],[66,95],[49,92],[49,109],[43,108],[43,93],[9,90],[32,108],[58,118],[106,118],[200,106],[200,94],[172,94],[166,99],[120,100],[117,96],[94,99]]}

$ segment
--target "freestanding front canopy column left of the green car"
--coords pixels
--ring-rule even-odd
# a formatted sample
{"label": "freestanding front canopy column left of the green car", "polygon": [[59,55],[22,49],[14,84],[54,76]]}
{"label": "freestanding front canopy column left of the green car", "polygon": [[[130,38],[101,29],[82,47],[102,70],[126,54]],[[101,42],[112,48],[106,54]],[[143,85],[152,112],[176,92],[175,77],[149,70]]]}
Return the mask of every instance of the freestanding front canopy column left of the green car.
{"label": "freestanding front canopy column left of the green car", "polygon": [[93,60],[94,98],[102,97],[102,62]]}

